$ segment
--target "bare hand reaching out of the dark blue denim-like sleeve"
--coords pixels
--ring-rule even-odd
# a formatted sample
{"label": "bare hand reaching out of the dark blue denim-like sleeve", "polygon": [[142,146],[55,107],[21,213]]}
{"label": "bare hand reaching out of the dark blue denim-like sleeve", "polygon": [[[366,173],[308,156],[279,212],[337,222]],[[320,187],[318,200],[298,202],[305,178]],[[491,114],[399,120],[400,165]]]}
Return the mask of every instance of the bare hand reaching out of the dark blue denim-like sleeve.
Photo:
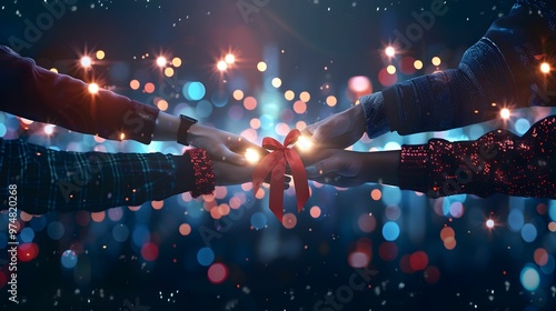
{"label": "bare hand reaching out of the dark blue denim-like sleeve", "polygon": [[314,124],[304,133],[321,148],[345,149],[357,142],[366,131],[365,112],[360,104],[332,114]]}

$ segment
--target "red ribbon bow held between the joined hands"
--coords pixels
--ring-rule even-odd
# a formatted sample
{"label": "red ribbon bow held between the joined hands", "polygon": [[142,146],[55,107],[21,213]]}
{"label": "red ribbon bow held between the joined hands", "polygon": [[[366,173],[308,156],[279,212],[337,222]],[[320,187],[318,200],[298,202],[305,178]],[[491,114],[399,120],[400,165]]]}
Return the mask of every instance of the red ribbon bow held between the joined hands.
{"label": "red ribbon bow held between the joined hands", "polygon": [[286,164],[289,165],[294,178],[298,213],[304,208],[305,202],[309,200],[309,183],[307,181],[307,174],[305,173],[304,162],[294,149],[288,148],[297,141],[299,136],[301,136],[299,130],[291,130],[284,140],[284,144],[272,138],[264,138],[262,148],[274,151],[262,158],[252,172],[252,189],[255,193],[259,190],[262,181],[270,174],[270,210],[280,222],[284,215],[282,204]]}

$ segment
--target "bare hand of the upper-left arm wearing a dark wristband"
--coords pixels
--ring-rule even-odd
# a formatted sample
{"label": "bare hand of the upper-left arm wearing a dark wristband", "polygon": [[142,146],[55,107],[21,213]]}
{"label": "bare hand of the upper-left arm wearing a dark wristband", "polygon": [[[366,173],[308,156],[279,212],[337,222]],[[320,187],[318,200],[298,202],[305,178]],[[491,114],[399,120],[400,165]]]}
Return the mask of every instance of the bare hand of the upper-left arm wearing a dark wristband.
{"label": "bare hand of the upper-left arm wearing a dark wristband", "polygon": [[245,158],[247,149],[255,149],[260,154],[268,153],[260,146],[242,137],[199,123],[195,123],[189,128],[188,140],[191,146],[205,149],[212,160],[236,165],[247,164]]}

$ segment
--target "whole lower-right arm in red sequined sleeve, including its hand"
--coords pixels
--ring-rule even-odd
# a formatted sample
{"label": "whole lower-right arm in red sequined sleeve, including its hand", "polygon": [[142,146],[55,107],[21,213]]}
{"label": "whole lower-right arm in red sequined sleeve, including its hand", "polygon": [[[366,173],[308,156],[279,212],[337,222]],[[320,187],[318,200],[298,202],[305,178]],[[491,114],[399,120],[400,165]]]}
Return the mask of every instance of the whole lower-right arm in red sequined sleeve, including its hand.
{"label": "whole lower-right arm in red sequined sleeve, including its hand", "polygon": [[339,187],[365,182],[439,198],[494,193],[556,198],[556,116],[535,123],[523,137],[506,130],[476,141],[431,139],[398,151],[324,150],[307,168],[310,179]]}

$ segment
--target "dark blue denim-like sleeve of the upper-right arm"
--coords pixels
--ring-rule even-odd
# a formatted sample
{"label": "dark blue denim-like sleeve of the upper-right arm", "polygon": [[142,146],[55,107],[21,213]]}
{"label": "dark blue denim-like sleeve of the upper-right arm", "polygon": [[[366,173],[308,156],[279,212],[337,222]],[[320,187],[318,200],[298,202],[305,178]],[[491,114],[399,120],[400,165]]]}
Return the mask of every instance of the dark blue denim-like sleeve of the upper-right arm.
{"label": "dark blue denim-like sleeve of the upper-right arm", "polygon": [[457,69],[363,97],[369,137],[459,128],[495,119],[503,107],[555,106],[539,71],[556,51],[555,3],[547,3],[517,1],[465,52]]}

